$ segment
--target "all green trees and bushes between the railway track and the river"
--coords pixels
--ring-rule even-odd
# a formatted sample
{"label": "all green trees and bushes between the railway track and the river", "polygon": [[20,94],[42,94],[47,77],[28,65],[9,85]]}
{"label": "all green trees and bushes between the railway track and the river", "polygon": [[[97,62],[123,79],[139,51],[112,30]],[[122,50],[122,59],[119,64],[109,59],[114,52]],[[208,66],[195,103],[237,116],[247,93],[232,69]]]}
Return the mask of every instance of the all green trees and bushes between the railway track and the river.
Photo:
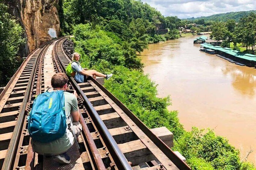
{"label": "all green trees and bushes between the railway track and the river", "polygon": [[[62,28],[66,34],[74,36],[75,51],[82,56],[82,66],[113,73],[105,87],[149,128],[166,126],[172,131],[173,150],[183,154],[191,168],[254,168],[248,162],[241,162],[239,151],[212,130],[193,128],[190,132],[185,131],[179,122],[178,112],[167,109],[171,104],[170,98],[157,97],[155,83],[143,74],[143,65],[136,54],[147,48],[149,43],[178,38],[178,28],[187,25],[187,21],[163,17],[148,4],[135,0],[103,0],[101,3],[97,0],[62,0],[61,3]],[[211,22],[197,22],[204,24],[201,29],[209,31],[207,24]],[[231,30],[230,25],[224,29]],[[157,27],[170,31],[166,35],[157,35]]]}

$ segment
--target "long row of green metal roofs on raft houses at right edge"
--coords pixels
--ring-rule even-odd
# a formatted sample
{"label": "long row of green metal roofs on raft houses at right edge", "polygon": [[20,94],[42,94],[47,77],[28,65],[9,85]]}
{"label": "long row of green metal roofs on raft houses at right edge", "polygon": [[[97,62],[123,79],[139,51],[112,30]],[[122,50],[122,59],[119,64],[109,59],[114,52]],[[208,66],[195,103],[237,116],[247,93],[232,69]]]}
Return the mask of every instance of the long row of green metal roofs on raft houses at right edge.
{"label": "long row of green metal roofs on raft houses at right edge", "polygon": [[243,54],[237,50],[232,50],[231,48],[227,48],[227,47],[221,48],[219,46],[213,46],[211,44],[207,44],[206,42],[203,44],[200,44],[200,45],[203,46],[204,48],[210,48],[212,50],[223,51],[227,54],[233,55],[238,58],[243,58],[243,59],[250,60],[250,61],[256,61],[256,55],[253,55],[253,54]]}

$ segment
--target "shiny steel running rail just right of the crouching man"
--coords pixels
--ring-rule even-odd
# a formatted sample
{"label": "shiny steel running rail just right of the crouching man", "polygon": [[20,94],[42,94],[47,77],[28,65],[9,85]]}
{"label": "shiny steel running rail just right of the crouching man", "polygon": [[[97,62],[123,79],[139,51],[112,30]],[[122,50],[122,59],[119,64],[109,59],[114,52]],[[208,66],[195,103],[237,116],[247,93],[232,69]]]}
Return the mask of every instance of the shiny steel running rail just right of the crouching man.
{"label": "shiny steel running rail just right of the crouching man", "polygon": [[[65,70],[65,66],[62,63],[60,57],[57,55],[60,65],[62,66],[63,70]],[[76,89],[78,94],[80,94],[84,100],[85,107],[89,113],[91,113],[91,118],[94,121],[94,124],[97,126],[98,131],[100,132],[101,136],[103,137],[103,140],[105,144],[107,145],[108,150],[111,153],[111,156],[113,157],[117,168],[124,169],[124,170],[132,170],[131,165],[127,161],[126,157],[124,156],[123,152],[118,147],[116,141],[114,140],[113,136],[108,131],[106,125],[101,120],[100,116],[98,115],[97,111],[92,106],[91,102],[88,100],[84,92],[81,90],[81,88],[78,86],[78,84],[75,82],[75,79],[73,77],[70,77],[70,81],[73,85],[73,87]]]}

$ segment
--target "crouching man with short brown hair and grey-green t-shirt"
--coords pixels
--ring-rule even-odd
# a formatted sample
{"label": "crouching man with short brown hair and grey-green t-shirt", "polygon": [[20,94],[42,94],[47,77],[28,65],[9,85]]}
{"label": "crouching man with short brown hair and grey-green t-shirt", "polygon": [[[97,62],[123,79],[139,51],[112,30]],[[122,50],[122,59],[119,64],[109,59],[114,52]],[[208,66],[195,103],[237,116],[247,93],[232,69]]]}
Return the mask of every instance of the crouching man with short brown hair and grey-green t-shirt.
{"label": "crouching man with short brown hair and grey-green t-shirt", "polygon": [[[64,132],[63,136],[61,136],[60,138],[57,138],[54,141],[50,141],[50,142],[46,141],[47,143],[45,143],[45,141],[44,142],[39,142],[39,141],[43,141],[43,139],[42,140],[41,139],[40,140],[34,140],[33,133],[32,133],[32,135],[30,134],[31,138],[33,139],[32,140],[32,147],[33,147],[34,151],[38,154],[46,155],[46,156],[53,156],[53,159],[58,163],[70,163],[70,157],[66,153],[66,151],[70,147],[72,147],[72,145],[75,143],[75,139],[74,139],[74,136],[73,136],[74,133],[72,134],[71,129],[73,129],[75,131],[74,135],[76,135],[76,138],[78,137],[78,135],[81,133],[81,130],[82,130],[82,125],[78,122],[79,121],[79,112],[78,112],[77,99],[76,99],[76,96],[74,94],[66,92],[66,90],[68,88],[68,78],[64,73],[57,73],[57,74],[53,75],[53,77],[51,79],[51,84],[52,84],[52,87],[55,88],[55,90],[56,90],[54,92],[62,92],[62,94],[64,94],[64,100],[65,100],[65,105],[64,105],[65,106],[65,111],[64,111],[64,113],[66,113],[66,119],[64,119],[64,126],[63,127],[65,127],[66,130],[64,128],[65,132],[63,131]],[[48,93],[48,95],[50,95],[50,93],[53,93],[53,92],[47,92],[46,91],[46,93]],[[45,94],[45,93],[43,93],[43,94]],[[43,94],[40,94],[40,95],[43,95]],[[50,106],[52,106],[52,105],[55,106],[54,102],[57,103],[58,101],[53,100],[53,103],[49,104],[49,107],[48,107],[48,104],[45,104],[45,105],[47,105],[46,109],[49,109]],[[64,101],[62,101],[62,102],[64,104]],[[44,102],[44,103],[46,103],[46,102]],[[33,107],[34,107],[34,105],[33,105]],[[61,107],[64,109],[63,106],[61,106]],[[31,113],[33,113],[33,108],[32,108]],[[46,113],[46,114],[49,114],[49,113]],[[52,113],[52,114],[55,114],[55,113]],[[73,118],[73,122],[72,122],[73,127],[70,127],[70,124],[68,124],[68,122],[70,120],[69,119],[70,115]],[[33,116],[33,115],[31,115],[31,116]],[[56,114],[56,117],[57,117],[57,114]],[[52,119],[52,118],[48,118],[48,119]],[[48,121],[48,119],[46,119],[46,121]],[[66,120],[66,125],[65,125],[65,120]],[[57,122],[57,120],[56,120],[56,122]],[[56,123],[55,123],[55,125],[54,125],[54,123],[53,123],[53,126],[55,126],[54,127],[54,130],[55,130],[56,129]],[[31,124],[32,125],[31,125],[30,129],[32,129],[33,122]],[[45,124],[42,123],[42,125],[46,126],[46,123]],[[31,131],[33,131],[33,130],[31,130]],[[48,135],[48,134],[46,134],[46,135]],[[47,137],[44,137],[44,138],[47,138]]]}

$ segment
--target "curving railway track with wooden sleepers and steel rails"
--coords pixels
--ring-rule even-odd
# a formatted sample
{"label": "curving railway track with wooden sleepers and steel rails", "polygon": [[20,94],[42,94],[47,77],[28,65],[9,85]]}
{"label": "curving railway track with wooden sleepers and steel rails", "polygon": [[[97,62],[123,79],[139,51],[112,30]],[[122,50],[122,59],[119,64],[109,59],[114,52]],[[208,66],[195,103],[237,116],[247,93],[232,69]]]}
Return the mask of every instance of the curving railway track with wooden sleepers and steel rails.
{"label": "curving railway track with wooden sleepers and steel rails", "polygon": [[[67,38],[49,42],[30,54],[0,95],[0,167],[2,169],[190,169],[98,81],[69,89],[78,94],[83,130],[78,146],[68,151],[71,163],[59,165],[33,152],[27,113],[34,96],[50,87],[50,78],[65,72],[71,59]],[[17,118],[18,116],[18,118]]]}

